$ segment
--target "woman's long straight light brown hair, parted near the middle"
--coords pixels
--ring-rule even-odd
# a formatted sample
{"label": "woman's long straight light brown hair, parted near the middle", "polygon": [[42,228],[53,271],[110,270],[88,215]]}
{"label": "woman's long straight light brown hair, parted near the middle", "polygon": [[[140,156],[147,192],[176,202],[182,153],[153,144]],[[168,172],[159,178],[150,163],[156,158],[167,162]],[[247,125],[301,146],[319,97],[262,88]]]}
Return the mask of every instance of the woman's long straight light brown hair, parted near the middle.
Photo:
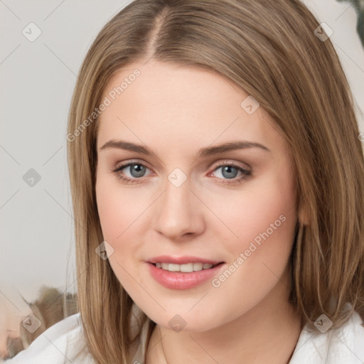
{"label": "woman's long straight light brown hair, parted near the middle", "polygon": [[[139,331],[132,336],[134,302],[95,252],[103,241],[95,108],[115,73],[151,58],[218,73],[270,114],[289,145],[298,190],[291,304],[310,327],[321,314],[333,328],[354,310],[364,317],[363,146],[325,34],[299,0],[136,0],[97,35],[77,77],[67,139],[78,307],[98,363],[127,363]],[[141,327],[148,318],[140,317]]]}

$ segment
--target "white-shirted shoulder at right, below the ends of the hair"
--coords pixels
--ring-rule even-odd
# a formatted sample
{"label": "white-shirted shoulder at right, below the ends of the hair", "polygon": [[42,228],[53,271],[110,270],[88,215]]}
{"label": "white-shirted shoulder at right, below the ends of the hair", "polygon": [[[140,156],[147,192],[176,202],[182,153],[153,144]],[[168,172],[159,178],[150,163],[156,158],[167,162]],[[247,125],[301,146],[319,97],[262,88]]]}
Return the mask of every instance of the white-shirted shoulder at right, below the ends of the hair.
{"label": "white-shirted shoulder at right, below the ends of the hair", "polygon": [[[325,321],[325,318],[323,317]],[[326,320],[327,317],[326,317]],[[320,321],[321,323],[321,321]],[[328,321],[327,324],[329,324]],[[319,324],[319,323],[318,323]],[[323,324],[325,324],[323,322]],[[305,326],[289,364],[356,364],[364,362],[364,327],[358,312],[336,329],[312,331]]]}

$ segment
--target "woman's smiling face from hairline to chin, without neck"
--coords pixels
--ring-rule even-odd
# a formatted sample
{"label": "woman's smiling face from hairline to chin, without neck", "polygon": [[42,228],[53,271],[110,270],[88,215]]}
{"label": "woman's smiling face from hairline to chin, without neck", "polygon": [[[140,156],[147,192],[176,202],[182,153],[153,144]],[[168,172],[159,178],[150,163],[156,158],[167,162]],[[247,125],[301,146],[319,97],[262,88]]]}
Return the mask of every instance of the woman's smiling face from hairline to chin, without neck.
{"label": "woman's smiling face from hairline to chin, without neck", "polygon": [[102,100],[97,208],[137,306],[161,326],[205,331],[287,300],[296,188],[267,112],[218,74],[154,60],[114,75]]}

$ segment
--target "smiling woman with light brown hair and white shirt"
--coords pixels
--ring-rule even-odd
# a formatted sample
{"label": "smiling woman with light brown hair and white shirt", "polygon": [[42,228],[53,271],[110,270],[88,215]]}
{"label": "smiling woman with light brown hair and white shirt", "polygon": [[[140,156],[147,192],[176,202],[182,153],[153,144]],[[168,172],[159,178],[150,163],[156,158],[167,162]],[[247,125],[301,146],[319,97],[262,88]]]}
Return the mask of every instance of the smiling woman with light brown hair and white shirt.
{"label": "smiling woman with light brown hair and white shirt", "polygon": [[10,364],[364,360],[363,149],[329,36],[299,0],[106,24],[68,122],[80,313]]}

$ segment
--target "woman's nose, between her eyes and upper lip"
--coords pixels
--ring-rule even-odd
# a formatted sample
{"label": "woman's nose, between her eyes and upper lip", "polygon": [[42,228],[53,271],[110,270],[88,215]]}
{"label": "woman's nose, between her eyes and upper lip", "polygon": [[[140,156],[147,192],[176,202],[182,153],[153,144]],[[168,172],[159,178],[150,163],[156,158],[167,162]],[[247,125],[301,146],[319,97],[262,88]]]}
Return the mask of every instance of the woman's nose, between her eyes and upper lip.
{"label": "woman's nose, between her eyes and upper lip", "polygon": [[155,206],[154,230],[169,240],[203,232],[203,203],[191,190],[188,179],[178,187],[167,180],[164,186]]}

